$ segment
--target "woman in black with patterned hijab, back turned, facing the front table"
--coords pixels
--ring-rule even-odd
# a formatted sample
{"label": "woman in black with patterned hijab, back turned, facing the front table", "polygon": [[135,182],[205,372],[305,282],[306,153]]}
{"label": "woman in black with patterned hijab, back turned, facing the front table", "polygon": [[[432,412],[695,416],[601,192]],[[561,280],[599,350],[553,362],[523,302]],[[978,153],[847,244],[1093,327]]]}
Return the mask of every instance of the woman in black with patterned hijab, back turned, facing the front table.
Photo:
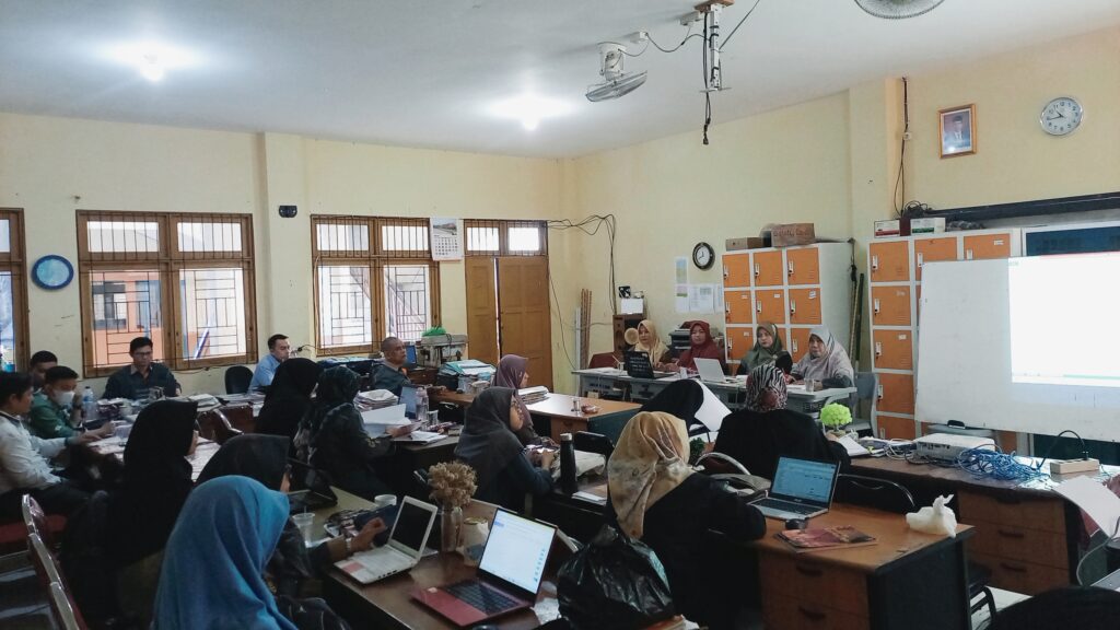
{"label": "woman in black with patterned hijab, back turned, facing the front table", "polygon": [[848,451],[825,437],[813,418],[785,408],[785,374],[759,365],[747,379],[747,405],[724,419],[716,452],[734,457],[752,474],[774,479],[777,458],[851,463]]}

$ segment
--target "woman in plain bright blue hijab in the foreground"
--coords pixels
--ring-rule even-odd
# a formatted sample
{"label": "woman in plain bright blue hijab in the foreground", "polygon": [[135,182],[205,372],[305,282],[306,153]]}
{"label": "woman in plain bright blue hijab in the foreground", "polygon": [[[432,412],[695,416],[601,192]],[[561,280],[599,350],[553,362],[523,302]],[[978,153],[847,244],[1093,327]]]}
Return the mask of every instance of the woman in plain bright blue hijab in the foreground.
{"label": "woman in plain bright blue hijab in the foreground", "polygon": [[167,543],[153,630],[347,628],[325,603],[297,623],[262,577],[288,520],[288,498],[244,476],[199,485]]}

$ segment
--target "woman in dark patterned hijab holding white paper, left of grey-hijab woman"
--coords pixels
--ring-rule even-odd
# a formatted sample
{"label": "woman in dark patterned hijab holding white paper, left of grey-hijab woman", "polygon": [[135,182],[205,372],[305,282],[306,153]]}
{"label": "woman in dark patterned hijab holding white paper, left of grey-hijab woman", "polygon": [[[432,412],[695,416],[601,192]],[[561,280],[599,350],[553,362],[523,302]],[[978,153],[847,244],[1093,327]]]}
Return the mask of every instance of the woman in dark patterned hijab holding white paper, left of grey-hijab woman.
{"label": "woman in dark patterned hijab holding white paper, left of grey-hijab woman", "polygon": [[[354,407],[357,374],[338,365],[319,374],[315,401],[304,415],[296,436],[297,456],[326,471],[343,490],[373,501],[392,490],[374,471],[374,462],[392,453],[391,430],[373,439]],[[404,427],[405,429],[408,427]]]}

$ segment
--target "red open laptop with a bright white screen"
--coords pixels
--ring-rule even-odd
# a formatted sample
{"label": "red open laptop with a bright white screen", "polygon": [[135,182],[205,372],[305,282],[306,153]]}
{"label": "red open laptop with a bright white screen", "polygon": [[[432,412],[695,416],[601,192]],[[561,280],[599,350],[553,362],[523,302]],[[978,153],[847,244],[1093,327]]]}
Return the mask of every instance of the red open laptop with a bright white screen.
{"label": "red open laptop with a bright white screen", "polygon": [[530,608],[536,602],[556,530],[498,509],[478,574],[447,586],[413,591],[412,597],[459,627]]}

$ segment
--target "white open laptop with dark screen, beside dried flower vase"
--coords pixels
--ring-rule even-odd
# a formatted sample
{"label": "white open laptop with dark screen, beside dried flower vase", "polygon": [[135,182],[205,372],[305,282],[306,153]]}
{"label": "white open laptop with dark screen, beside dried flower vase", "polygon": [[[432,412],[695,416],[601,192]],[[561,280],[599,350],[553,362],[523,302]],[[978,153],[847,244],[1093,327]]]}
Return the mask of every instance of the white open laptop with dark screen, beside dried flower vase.
{"label": "white open laptop with dark screen, beside dried flower vase", "polygon": [[389,541],[368,552],[358,552],[335,563],[339,569],[362,584],[411,569],[420,562],[431,525],[436,522],[436,506],[405,497],[396,510],[396,520]]}

